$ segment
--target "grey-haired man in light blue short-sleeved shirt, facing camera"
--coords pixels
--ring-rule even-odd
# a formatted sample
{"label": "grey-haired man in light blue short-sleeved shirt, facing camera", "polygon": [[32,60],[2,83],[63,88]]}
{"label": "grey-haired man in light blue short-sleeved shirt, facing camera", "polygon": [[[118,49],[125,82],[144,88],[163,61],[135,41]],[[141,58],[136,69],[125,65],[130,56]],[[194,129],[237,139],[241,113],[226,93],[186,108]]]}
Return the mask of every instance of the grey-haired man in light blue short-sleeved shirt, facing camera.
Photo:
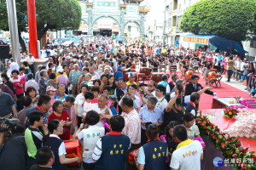
{"label": "grey-haired man in light blue short-sleeved shirt, facing camera", "polygon": [[158,107],[155,107],[157,102],[158,100],[154,96],[149,96],[147,106],[144,106],[139,112],[142,123],[141,144],[146,144],[148,140],[146,130],[149,124],[155,124],[160,127],[163,123],[163,112]]}

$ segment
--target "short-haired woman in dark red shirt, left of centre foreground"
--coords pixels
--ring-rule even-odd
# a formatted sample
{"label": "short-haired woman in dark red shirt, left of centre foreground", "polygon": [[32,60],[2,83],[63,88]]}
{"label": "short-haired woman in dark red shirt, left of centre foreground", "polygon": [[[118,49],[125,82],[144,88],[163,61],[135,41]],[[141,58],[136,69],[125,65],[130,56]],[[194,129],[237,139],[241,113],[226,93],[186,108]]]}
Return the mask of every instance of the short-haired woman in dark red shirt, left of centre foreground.
{"label": "short-haired woman in dark red shirt, left of centre foreground", "polygon": [[48,122],[57,119],[64,122],[63,133],[59,136],[62,140],[70,139],[70,127],[72,126],[71,117],[64,111],[64,105],[60,100],[55,101],[52,105],[52,110],[48,117]]}

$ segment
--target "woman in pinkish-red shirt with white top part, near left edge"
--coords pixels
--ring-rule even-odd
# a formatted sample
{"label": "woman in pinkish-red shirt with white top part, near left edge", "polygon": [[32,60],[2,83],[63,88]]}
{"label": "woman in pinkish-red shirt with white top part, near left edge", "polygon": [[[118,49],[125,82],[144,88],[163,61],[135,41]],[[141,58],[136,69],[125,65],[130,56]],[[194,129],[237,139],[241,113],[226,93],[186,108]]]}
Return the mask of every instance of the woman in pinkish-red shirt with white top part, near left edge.
{"label": "woman in pinkish-red shirt with white top part, near left edge", "polygon": [[17,110],[21,111],[23,109],[20,99],[24,96],[24,79],[22,77],[18,77],[19,71],[12,71],[12,78],[10,79],[9,82],[12,82],[15,88],[15,94],[17,98]]}

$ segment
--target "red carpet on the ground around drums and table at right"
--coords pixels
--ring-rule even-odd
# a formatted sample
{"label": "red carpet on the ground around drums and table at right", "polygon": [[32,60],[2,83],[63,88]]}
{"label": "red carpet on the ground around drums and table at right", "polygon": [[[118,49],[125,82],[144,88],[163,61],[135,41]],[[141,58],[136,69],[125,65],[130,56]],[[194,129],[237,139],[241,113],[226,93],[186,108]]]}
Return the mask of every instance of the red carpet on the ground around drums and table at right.
{"label": "red carpet on the ground around drums and table at right", "polygon": [[[166,72],[166,73],[169,73]],[[202,77],[201,73],[195,72],[196,75],[199,75],[199,77]],[[180,77],[181,73],[177,72],[178,77]],[[171,77],[169,78],[169,81],[171,81]],[[223,77],[224,80],[226,80],[225,77]],[[231,80],[233,81],[233,79]],[[145,83],[148,83],[148,81],[146,81]],[[199,83],[201,83],[202,87],[208,87],[209,85],[205,84],[204,79],[200,78],[199,79]],[[242,88],[246,88],[245,86],[241,85],[241,89]],[[218,94],[218,97],[234,97],[234,96],[241,96],[241,98],[244,99],[253,99],[249,96],[249,94],[247,94],[246,92],[243,92],[237,88],[233,88],[230,85],[221,82],[221,87],[218,86],[218,88],[216,88],[215,85],[213,85],[213,92],[215,92],[216,94]],[[207,109],[211,109],[212,108],[212,95],[208,95],[208,94],[202,94],[201,95],[201,101],[199,104],[199,110],[207,110]]]}

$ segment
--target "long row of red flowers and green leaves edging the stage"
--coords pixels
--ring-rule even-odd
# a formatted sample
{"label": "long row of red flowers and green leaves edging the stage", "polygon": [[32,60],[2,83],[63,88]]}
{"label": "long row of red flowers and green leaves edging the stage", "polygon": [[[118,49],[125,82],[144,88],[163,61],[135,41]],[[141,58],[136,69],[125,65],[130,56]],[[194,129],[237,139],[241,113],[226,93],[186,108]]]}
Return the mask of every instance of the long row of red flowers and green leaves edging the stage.
{"label": "long row of red flowers and green leaves edging the stage", "polygon": [[224,155],[224,159],[235,159],[235,163],[232,163],[236,169],[256,169],[255,163],[245,164],[242,159],[253,159],[256,161],[256,156],[253,155],[254,151],[249,152],[248,148],[241,146],[241,142],[234,137],[230,137],[229,134],[221,133],[218,126],[212,124],[207,116],[201,116],[201,113],[196,118],[197,126],[201,130],[201,133],[205,133],[207,138],[215,144],[215,149],[221,150]]}

